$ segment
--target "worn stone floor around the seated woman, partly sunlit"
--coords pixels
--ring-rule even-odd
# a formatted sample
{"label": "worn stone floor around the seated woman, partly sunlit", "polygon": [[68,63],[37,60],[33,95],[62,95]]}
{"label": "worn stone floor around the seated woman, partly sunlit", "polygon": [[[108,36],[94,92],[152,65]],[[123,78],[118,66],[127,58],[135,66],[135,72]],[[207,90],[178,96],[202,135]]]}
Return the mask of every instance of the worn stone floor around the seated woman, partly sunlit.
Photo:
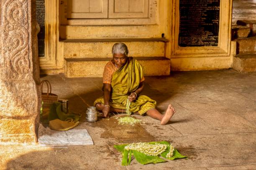
{"label": "worn stone floor around the seated woman, partly sunlit", "polygon": [[[0,145],[0,169],[8,170],[255,170],[256,169],[256,72],[234,70],[172,72],[146,77],[143,94],[164,112],[176,108],[168,125],[148,116],[143,123],[121,128],[113,117],[85,122],[84,112],[102,95],[102,78],[42,76],[52,92],[69,99],[70,109],[82,114],[76,129],[86,128],[95,145],[42,147]],[[113,123],[114,122],[114,123]],[[187,159],[140,165],[132,160],[121,166],[115,144],[167,140]]]}

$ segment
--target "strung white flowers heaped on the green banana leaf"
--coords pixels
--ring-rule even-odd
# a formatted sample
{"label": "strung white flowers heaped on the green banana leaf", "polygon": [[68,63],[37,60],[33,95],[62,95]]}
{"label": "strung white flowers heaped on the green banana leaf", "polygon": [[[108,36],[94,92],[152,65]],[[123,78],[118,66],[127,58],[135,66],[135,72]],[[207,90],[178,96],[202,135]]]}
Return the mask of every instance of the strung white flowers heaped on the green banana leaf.
{"label": "strung white flowers heaped on the green banana leaf", "polygon": [[[137,150],[138,152],[144,153],[148,156],[157,156],[161,153],[163,153],[167,149],[166,144],[161,143],[155,143],[155,144],[149,144],[149,143],[131,143],[127,146],[125,146],[125,150]],[[167,153],[166,157],[171,158],[173,156],[174,147],[172,144],[170,144],[170,152]]]}

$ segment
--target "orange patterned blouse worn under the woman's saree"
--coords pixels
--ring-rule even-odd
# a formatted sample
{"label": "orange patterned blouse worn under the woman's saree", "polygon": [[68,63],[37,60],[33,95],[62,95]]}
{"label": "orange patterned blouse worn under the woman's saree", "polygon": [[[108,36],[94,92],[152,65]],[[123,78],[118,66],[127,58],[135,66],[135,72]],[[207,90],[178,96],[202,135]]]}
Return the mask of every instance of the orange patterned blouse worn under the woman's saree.
{"label": "orange patterned blouse worn under the woman's saree", "polygon": [[[103,83],[108,83],[111,84],[111,80],[112,80],[112,75],[113,73],[118,70],[117,67],[115,67],[115,64],[113,64],[112,61],[109,61],[104,68],[104,72],[103,72]],[[145,80],[144,76],[141,79],[141,82],[143,82]]]}

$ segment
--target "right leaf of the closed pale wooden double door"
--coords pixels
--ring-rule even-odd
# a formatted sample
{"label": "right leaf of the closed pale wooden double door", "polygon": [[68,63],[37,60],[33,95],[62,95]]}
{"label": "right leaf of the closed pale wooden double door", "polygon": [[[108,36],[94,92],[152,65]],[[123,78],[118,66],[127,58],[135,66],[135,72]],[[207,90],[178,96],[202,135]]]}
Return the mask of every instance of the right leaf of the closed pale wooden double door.
{"label": "right leaf of the closed pale wooden double door", "polygon": [[108,18],[148,18],[148,0],[109,0]]}

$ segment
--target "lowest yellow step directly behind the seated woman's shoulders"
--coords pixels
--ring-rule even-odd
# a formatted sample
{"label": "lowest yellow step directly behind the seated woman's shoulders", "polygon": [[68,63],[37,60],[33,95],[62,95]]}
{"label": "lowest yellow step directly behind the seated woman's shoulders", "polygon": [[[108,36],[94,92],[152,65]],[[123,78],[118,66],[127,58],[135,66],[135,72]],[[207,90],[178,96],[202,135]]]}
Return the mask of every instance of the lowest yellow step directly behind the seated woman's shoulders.
{"label": "lowest yellow step directly behind the seated woman's shoulders", "polygon": [[[134,57],[144,68],[145,75],[170,75],[170,59],[166,57]],[[66,77],[102,77],[110,58],[65,58]]]}

